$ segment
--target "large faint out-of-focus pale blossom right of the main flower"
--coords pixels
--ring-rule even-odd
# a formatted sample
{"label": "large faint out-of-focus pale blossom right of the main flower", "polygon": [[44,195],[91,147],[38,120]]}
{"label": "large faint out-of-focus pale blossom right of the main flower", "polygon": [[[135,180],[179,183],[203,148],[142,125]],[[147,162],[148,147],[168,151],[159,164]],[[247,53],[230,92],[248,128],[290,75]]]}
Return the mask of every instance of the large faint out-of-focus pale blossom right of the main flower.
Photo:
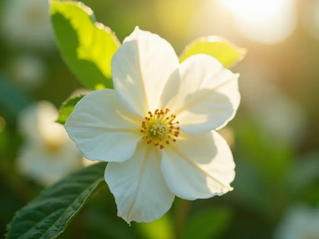
{"label": "large faint out-of-focus pale blossom right of the main flower", "polygon": [[276,72],[258,62],[241,64],[242,101],[271,141],[298,143],[307,127],[303,108],[274,83]]}

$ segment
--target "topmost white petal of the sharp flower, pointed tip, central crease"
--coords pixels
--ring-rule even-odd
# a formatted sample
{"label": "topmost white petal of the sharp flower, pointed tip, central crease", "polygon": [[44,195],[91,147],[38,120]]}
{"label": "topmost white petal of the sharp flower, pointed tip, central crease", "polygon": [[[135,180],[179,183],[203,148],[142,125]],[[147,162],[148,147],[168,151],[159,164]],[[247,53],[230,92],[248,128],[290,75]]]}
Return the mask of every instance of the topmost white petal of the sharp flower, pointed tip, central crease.
{"label": "topmost white petal of the sharp flower, pointed tip, central crease", "polygon": [[164,85],[179,60],[166,40],[136,27],[115,52],[111,65],[121,104],[145,117],[158,107]]}

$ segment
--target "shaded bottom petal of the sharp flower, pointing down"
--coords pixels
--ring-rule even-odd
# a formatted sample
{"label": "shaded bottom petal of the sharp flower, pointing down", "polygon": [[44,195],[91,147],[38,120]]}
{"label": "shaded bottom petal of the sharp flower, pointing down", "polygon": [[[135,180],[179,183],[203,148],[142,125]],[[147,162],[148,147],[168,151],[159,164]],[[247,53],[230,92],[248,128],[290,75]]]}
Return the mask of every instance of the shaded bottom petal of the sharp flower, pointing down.
{"label": "shaded bottom petal of the sharp flower, pointing down", "polygon": [[162,217],[175,197],[161,173],[158,149],[146,143],[124,163],[108,163],[105,181],[115,197],[117,215],[127,222],[151,222]]}

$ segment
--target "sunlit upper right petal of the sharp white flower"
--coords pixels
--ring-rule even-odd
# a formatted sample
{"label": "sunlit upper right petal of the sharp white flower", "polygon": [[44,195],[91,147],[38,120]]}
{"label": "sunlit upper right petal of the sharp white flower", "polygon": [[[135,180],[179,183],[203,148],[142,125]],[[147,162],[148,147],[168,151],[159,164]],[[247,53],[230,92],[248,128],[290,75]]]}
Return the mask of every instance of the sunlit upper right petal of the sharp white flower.
{"label": "sunlit upper right petal of the sharp white flower", "polygon": [[240,102],[239,74],[209,55],[197,54],[180,65],[179,75],[167,82],[162,101],[182,130],[204,134],[234,118]]}

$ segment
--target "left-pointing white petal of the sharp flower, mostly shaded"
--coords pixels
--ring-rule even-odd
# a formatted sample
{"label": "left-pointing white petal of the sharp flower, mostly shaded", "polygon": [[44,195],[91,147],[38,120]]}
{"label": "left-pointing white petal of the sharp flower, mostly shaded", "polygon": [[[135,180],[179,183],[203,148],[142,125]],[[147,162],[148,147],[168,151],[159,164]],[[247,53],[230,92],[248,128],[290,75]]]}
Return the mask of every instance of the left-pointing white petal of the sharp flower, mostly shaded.
{"label": "left-pointing white petal of the sharp flower, mostly shaded", "polygon": [[83,97],[64,127],[85,158],[123,162],[133,155],[141,138],[142,120],[121,108],[114,90],[103,89]]}

